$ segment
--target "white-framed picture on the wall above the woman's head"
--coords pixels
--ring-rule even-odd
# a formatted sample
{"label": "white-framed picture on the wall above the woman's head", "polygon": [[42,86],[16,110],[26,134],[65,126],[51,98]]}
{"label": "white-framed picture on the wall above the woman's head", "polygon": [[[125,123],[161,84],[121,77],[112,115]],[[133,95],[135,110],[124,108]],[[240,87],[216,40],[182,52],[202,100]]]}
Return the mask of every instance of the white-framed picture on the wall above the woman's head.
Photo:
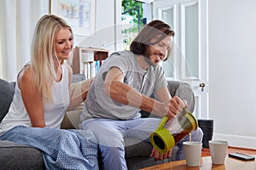
{"label": "white-framed picture on the wall above the woman's head", "polygon": [[49,13],[66,20],[74,34],[95,37],[96,0],[49,0]]}

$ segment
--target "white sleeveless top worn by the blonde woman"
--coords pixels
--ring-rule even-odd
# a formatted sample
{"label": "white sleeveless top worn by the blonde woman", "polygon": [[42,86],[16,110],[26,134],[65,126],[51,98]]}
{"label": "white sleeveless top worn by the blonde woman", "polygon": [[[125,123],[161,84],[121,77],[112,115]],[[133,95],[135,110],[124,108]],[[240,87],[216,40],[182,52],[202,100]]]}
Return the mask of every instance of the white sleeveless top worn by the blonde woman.
{"label": "white sleeveless top worn by the blonde woman", "polygon": [[[47,103],[43,99],[44,122],[46,127],[61,127],[65,111],[69,105],[68,70],[67,65],[61,65],[62,77],[60,82],[54,82],[52,87],[53,102]],[[36,113],[35,113],[36,114]],[[18,81],[15,86],[14,99],[9,107],[9,112],[0,123],[0,135],[16,126],[32,127],[32,122],[26,112]]]}

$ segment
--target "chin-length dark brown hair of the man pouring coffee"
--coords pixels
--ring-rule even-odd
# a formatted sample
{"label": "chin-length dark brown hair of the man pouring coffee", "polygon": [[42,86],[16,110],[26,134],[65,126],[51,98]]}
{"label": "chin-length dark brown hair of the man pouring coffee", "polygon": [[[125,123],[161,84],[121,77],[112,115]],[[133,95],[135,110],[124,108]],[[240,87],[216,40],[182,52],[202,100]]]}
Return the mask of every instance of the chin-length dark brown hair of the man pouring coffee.
{"label": "chin-length dark brown hair of the man pouring coffee", "polygon": [[[160,42],[166,36],[174,37],[174,34],[175,32],[171,30],[171,26],[161,20],[153,20],[144,26],[143,30],[131,42],[130,51],[134,54],[145,55],[148,46]],[[153,38],[156,37],[158,37],[157,40],[152,42]],[[168,53],[170,54],[170,51]]]}

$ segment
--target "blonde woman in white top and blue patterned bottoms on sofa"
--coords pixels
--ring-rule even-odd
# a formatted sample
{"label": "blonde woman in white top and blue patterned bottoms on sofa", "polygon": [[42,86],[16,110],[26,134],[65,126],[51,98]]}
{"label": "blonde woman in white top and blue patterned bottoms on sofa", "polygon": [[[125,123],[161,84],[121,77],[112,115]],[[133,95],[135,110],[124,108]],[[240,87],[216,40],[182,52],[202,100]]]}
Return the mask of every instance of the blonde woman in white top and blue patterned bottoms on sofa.
{"label": "blonde woman in white top and blue patterned bottoms on sofa", "polygon": [[97,142],[90,131],[60,129],[65,111],[88,90],[70,99],[73,71],[64,64],[73,49],[73,31],[65,20],[46,14],[32,38],[32,60],[17,77],[15,95],[0,124],[0,139],[42,150],[46,169],[98,169]]}

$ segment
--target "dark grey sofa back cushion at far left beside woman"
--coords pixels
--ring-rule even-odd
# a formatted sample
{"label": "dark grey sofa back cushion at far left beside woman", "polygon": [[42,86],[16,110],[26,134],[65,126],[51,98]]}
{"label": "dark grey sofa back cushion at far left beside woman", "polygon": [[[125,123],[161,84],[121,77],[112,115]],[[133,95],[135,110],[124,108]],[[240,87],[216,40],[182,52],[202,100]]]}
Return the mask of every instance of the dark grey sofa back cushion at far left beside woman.
{"label": "dark grey sofa back cushion at far left beside woman", "polygon": [[15,83],[6,82],[0,78],[0,122],[9,111],[9,106],[14,98]]}

